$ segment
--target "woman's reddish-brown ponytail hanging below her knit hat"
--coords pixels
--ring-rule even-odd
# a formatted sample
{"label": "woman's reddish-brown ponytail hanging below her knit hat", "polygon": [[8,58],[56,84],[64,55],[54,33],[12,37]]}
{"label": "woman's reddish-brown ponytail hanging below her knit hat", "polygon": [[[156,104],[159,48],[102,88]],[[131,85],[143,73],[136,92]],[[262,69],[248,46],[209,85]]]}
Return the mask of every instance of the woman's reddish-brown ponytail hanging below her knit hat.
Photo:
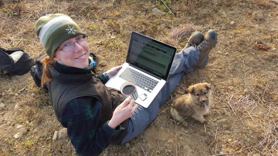
{"label": "woman's reddish-brown ponytail hanging below her knit hat", "polygon": [[41,60],[41,63],[43,64],[43,74],[41,76],[41,86],[44,84],[49,83],[51,79],[51,74],[49,71],[49,67],[54,67],[55,60],[50,59],[49,56],[44,57],[43,60]]}

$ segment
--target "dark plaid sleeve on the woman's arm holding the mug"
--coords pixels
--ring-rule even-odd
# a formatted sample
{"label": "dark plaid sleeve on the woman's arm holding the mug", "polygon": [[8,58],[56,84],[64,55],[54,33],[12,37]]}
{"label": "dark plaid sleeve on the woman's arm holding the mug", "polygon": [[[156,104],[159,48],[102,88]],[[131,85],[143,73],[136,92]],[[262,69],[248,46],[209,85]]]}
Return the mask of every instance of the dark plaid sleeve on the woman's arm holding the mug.
{"label": "dark plaid sleeve on the woman's arm holding the mug", "polygon": [[113,136],[122,133],[121,127],[115,130],[108,125],[109,121],[102,123],[101,107],[100,102],[91,96],[76,98],[65,105],[61,124],[67,128],[77,154],[101,154]]}

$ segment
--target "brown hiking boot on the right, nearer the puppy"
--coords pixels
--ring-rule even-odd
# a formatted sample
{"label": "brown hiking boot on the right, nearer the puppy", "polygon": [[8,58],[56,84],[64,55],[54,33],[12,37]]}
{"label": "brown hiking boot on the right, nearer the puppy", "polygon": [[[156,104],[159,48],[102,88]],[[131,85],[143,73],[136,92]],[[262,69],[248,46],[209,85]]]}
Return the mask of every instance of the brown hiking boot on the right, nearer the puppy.
{"label": "brown hiking boot on the right, nearer the puppy", "polygon": [[209,30],[204,36],[204,40],[196,46],[199,51],[199,62],[197,67],[204,67],[208,64],[208,53],[215,47],[217,42],[217,34],[214,30]]}

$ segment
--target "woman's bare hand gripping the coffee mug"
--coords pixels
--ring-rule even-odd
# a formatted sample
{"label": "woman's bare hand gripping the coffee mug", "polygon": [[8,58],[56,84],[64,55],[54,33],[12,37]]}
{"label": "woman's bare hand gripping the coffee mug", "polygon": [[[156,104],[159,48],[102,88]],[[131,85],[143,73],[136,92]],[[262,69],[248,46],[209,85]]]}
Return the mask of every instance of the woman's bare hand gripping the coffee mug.
{"label": "woman's bare hand gripping the coffee mug", "polygon": [[108,125],[112,128],[115,129],[117,125],[122,123],[124,120],[128,119],[133,115],[133,112],[138,108],[138,105],[134,103],[134,100],[128,96],[124,100],[123,103],[121,103],[113,113],[113,116],[111,120],[109,121]]}

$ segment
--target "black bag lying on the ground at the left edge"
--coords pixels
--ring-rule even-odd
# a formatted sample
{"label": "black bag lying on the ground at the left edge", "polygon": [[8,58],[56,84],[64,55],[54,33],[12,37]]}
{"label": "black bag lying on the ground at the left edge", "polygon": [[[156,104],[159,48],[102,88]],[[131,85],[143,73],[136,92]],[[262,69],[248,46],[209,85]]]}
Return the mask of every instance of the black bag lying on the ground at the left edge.
{"label": "black bag lying on the ground at the left edge", "polygon": [[[23,55],[15,62],[11,54],[16,51],[22,51]],[[0,74],[6,76],[23,75],[32,67],[33,59],[20,48],[4,49],[0,48]]]}

